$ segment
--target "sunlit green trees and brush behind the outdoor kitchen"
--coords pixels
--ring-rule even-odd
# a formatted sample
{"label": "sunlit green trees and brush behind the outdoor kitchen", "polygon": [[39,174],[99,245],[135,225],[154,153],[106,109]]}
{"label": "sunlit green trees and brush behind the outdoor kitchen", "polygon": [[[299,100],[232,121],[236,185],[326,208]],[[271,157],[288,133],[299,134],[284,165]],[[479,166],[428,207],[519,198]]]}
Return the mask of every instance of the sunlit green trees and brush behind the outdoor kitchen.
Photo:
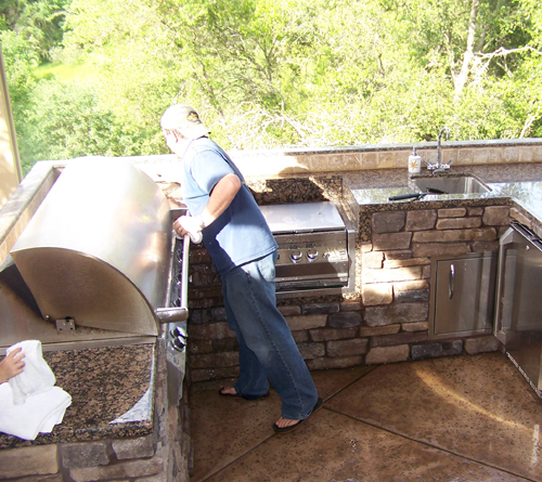
{"label": "sunlit green trees and brush behind the outdoor kitchen", "polygon": [[225,148],[542,135],[538,0],[5,0],[0,36],[27,166],[165,153],[173,102]]}

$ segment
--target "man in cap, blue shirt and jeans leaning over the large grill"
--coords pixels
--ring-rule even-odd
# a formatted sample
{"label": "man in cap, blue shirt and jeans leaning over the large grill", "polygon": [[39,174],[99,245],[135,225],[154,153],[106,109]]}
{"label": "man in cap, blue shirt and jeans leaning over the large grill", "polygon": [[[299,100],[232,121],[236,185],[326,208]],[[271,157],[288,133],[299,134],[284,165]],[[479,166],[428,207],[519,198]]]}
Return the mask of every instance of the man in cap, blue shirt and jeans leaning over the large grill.
{"label": "man in cap, blue shirt and jeans leaning over the large grill", "polygon": [[264,398],[271,381],[282,399],[282,417],[273,429],[289,432],[315,413],[322,400],[276,309],[276,243],[243,175],[208,139],[197,113],[177,104],[164,113],[160,125],[167,145],[182,162],[181,194],[192,214],[177,219],[173,229],[180,236],[203,234],[222,281],[228,326],[240,346],[238,380],[220,394]]}

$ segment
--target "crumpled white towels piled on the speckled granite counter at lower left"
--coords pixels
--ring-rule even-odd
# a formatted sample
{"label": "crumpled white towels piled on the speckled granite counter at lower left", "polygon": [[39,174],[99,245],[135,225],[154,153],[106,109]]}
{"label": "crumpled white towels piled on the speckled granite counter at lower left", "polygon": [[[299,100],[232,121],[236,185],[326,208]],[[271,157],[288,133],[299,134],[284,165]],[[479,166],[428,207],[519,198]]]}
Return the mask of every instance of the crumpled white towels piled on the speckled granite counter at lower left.
{"label": "crumpled white towels piled on the speckled granite counter at lower left", "polygon": [[40,341],[22,341],[7,352],[20,347],[25,354],[23,373],[0,383],[0,431],[35,440],[38,433],[49,433],[62,422],[72,396],[54,387],[56,379],[43,360]]}

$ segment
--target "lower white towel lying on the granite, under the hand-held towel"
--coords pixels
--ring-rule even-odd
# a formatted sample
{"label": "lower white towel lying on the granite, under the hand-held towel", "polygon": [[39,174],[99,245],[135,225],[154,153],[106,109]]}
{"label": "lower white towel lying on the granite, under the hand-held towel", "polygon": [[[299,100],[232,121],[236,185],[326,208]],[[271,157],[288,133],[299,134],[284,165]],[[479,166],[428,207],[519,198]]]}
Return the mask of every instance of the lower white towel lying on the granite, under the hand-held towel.
{"label": "lower white towel lying on the granite, under the hand-held towel", "polygon": [[10,383],[0,385],[0,431],[24,440],[49,433],[62,422],[72,396],[60,387],[30,395],[23,405],[13,403]]}

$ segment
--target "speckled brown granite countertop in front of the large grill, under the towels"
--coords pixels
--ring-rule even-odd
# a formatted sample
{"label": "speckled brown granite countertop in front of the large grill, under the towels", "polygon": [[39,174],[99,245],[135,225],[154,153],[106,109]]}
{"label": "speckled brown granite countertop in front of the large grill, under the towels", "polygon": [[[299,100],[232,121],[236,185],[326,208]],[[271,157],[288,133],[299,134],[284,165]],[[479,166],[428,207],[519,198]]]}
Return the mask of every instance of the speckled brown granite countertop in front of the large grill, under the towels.
{"label": "speckled brown granite countertop in front of the large grill, under the towels", "polygon": [[0,433],[0,450],[151,433],[156,351],[155,344],[137,344],[44,352],[72,405],[62,424],[35,441]]}

